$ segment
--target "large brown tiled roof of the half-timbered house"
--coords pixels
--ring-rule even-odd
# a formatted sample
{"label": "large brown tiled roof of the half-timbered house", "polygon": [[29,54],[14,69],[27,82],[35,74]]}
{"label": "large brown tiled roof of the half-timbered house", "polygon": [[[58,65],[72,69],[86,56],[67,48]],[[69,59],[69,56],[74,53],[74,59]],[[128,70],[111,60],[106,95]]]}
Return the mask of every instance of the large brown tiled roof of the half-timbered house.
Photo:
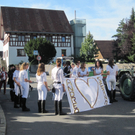
{"label": "large brown tiled roof of the half-timbered house", "polygon": [[5,32],[73,33],[64,11],[1,7]]}

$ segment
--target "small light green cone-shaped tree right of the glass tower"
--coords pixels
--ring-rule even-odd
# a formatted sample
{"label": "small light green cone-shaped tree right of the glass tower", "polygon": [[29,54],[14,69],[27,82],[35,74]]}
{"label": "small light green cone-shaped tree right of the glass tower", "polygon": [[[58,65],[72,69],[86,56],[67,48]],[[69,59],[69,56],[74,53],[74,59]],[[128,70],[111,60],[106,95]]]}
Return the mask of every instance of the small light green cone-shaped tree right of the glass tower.
{"label": "small light green cone-shaped tree right of the glass tower", "polygon": [[93,36],[89,32],[84,42],[82,43],[80,56],[87,62],[94,61],[94,58],[98,57],[98,51],[99,49],[97,48],[97,44],[94,42]]}

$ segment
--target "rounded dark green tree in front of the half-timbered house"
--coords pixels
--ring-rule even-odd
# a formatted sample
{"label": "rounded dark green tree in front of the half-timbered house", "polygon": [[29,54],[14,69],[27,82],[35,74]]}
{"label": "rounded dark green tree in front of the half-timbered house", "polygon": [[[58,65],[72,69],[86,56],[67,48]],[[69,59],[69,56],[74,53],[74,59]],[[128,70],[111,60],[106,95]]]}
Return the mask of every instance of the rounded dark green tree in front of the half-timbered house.
{"label": "rounded dark green tree in front of the half-timbered house", "polygon": [[33,55],[34,50],[38,50],[39,55],[41,56],[41,61],[45,64],[48,64],[53,57],[56,56],[55,46],[48,40],[43,38],[37,38],[30,40],[24,47],[25,53],[29,57],[29,61],[37,64],[36,56]]}

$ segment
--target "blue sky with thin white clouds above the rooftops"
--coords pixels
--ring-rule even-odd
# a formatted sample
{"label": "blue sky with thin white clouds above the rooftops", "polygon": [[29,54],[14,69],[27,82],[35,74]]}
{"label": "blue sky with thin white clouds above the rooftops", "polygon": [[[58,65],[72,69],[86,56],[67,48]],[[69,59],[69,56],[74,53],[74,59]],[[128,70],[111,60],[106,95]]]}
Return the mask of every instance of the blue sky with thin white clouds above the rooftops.
{"label": "blue sky with thin white clouds above the rooftops", "polygon": [[119,22],[135,9],[135,0],[0,0],[0,6],[64,10],[69,21],[76,10],[76,18],[86,19],[86,32],[95,40],[112,40]]}

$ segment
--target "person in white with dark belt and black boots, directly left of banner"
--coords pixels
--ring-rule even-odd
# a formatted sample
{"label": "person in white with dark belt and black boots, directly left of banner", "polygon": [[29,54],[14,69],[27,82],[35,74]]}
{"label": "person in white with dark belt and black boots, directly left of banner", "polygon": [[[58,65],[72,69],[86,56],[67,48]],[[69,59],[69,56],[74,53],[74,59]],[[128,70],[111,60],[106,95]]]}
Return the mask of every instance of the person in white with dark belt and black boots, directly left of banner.
{"label": "person in white with dark belt and black boots, directly left of banner", "polygon": [[63,92],[65,92],[64,87],[64,76],[63,76],[63,70],[61,69],[61,59],[56,60],[56,67],[52,69],[51,78],[53,79],[53,86],[55,88],[55,98],[54,98],[54,104],[55,104],[55,115],[58,114],[58,105],[59,105],[59,115],[65,115],[62,111],[62,97]]}

